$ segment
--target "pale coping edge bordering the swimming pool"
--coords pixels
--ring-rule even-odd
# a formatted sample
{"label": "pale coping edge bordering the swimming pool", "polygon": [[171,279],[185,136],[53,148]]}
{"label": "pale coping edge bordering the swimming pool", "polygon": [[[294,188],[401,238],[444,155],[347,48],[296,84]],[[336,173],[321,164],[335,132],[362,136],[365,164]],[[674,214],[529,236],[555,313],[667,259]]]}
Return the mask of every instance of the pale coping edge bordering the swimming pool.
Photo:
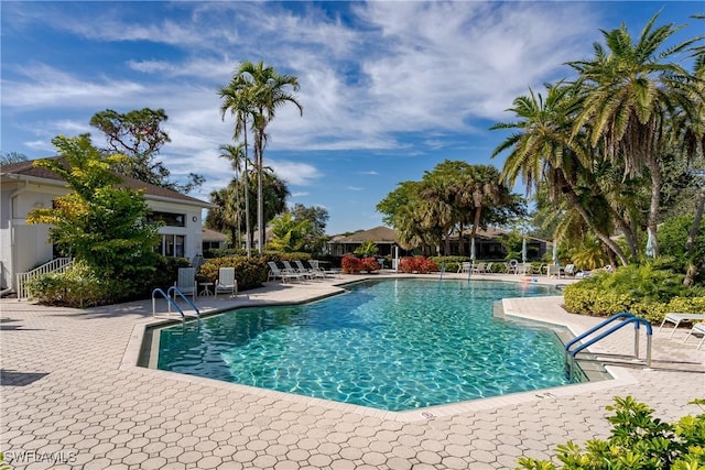
{"label": "pale coping edge bordering the swimming pool", "polygon": [[[403,278],[408,276],[384,276],[384,278],[393,278],[393,277]],[[332,287],[339,289],[339,292],[328,292],[319,295],[311,295],[310,297],[306,297],[304,299],[292,300],[292,302],[259,303],[257,304],[257,306],[259,307],[259,306],[268,306],[268,305],[269,306],[299,305],[299,304],[316,302],[323,298],[330,297],[333,295],[338,295],[344,293],[345,288],[343,288],[341,286],[355,284],[357,282],[361,282],[366,280],[375,280],[375,278],[380,278],[380,277],[366,276],[366,277],[360,277],[354,281],[347,280],[347,281],[332,285]],[[453,277],[448,277],[448,280],[453,280]],[[492,280],[489,280],[489,281],[492,281]],[[511,282],[511,281],[505,281],[505,280],[497,280],[497,281]],[[505,298],[501,300],[505,315],[535,321],[536,319],[534,318],[534,316],[524,315],[521,310],[513,308],[513,306],[511,305],[512,304],[511,302],[507,302],[507,300],[512,300],[517,298],[521,299],[522,297],[511,297],[511,298]],[[539,298],[545,298],[545,297],[539,297]],[[249,303],[238,305],[236,307],[229,306],[229,307],[205,311],[204,314],[202,314],[202,316],[219,315],[223,311],[228,311],[228,310],[239,309],[239,308],[247,308],[252,306],[254,306],[254,304],[249,304]],[[383,419],[390,419],[390,420],[397,420],[397,422],[403,422],[403,423],[431,420],[435,417],[454,416],[462,413],[479,412],[479,411],[491,409],[491,408],[497,408],[501,406],[539,402],[544,398],[552,398],[552,397],[560,397],[560,396],[575,396],[575,395],[586,394],[595,391],[604,391],[608,389],[619,387],[619,386],[633,384],[638,382],[623,368],[604,365],[605,370],[607,370],[607,372],[611,375],[611,379],[596,381],[596,382],[585,382],[579,384],[540,389],[540,390],[530,391],[530,392],[518,392],[518,393],[511,393],[511,394],[501,395],[501,396],[476,398],[476,400],[444,404],[444,405],[434,405],[434,406],[427,406],[424,408],[410,409],[405,412],[390,412],[386,409],[372,408],[372,407],[367,407],[362,405],[354,405],[348,403],[328,401],[324,398],[290,394],[285,392],[259,389],[259,387],[249,386],[249,385],[223,382],[216,379],[199,378],[195,375],[187,375],[187,374],[182,374],[182,373],[171,372],[171,371],[162,371],[159,369],[151,369],[144,365],[139,365],[142,351],[144,348],[144,339],[145,339],[148,329],[159,327],[160,325],[166,326],[177,321],[181,321],[181,320],[153,317],[148,320],[142,320],[137,323],[132,329],[132,334],[130,335],[130,339],[126,347],[124,353],[122,356],[122,360],[120,362],[119,369],[122,371],[139,372],[147,375],[155,376],[155,378],[165,378],[165,379],[167,378],[172,380],[183,381],[186,383],[204,384],[204,385],[218,387],[221,390],[231,390],[231,391],[249,393],[249,394],[253,394],[262,397],[271,397],[280,401],[289,401],[292,404],[300,403],[300,404],[306,404],[306,405],[316,405],[326,409],[335,409],[340,412],[355,412],[366,416],[375,416]],[[565,327],[574,336],[576,336],[574,328],[572,328],[570,324],[556,321],[556,319],[551,319],[551,320],[545,319],[544,323],[556,325],[560,327]]]}

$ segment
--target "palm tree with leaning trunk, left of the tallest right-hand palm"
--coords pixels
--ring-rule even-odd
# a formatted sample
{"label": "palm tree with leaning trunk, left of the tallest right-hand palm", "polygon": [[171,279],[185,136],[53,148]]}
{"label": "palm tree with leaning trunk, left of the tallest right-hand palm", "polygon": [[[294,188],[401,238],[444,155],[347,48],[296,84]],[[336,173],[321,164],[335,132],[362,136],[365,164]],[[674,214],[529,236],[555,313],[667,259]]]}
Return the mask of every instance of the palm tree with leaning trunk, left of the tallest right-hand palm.
{"label": "palm tree with leaning trunk, left of the tallest right-hand palm", "polygon": [[506,150],[511,150],[505,161],[500,178],[511,187],[522,176],[527,186],[527,195],[532,190],[541,190],[546,185],[550,200],[565,197],[571,206],[581,215],[595,236],[628,264],[627,256],[609,237],[604,223],[598,223],[600,211],[609,210],[609,206],[590,204],[584,190],[577,186],[578,174],[589,177],[590,154],[574,139],[571,140],[572,120],[579,110],[579,100],[574,88],[562,83],[546,86],[546,98],[530,89],[529,96],[514,99],[512,111],[520,120],[511,123],[495,124],[496,129],[519,130],[491,154],[495,157]]}

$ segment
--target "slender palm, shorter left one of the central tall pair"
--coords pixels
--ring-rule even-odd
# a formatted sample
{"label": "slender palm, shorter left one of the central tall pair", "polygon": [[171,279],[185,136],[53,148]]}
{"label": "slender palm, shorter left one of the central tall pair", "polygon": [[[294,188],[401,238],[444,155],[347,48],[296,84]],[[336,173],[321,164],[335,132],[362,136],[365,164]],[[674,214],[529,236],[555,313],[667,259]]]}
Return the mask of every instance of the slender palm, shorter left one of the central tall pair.
{"label": "slender palm, shorter left one of the central tall pair", "polygon": [[241,84],[237,76],[232,78],[232,80],[218,89],[218,95],[223,99],[223,103],[220,105],[220,119],[225,120],[226,112],[230,111],[232,116],[235,116],[235,129],[232,131],[232,138],[237,141],[241,135],[243,136],[243,146],[245,146],[245,230],[246,230],[246,251],[248,258],[252,255],[252,228],[250,226],[250,192],[248,190],[249,184],[249,172],[247,168],[247,164],[249,161],[248,155],[248,145],[247,145],[247,136],[248,136],[248,122],[253,119],[252,114],[254,109],[252,108],[252,99],[250,89],[245,87]]}

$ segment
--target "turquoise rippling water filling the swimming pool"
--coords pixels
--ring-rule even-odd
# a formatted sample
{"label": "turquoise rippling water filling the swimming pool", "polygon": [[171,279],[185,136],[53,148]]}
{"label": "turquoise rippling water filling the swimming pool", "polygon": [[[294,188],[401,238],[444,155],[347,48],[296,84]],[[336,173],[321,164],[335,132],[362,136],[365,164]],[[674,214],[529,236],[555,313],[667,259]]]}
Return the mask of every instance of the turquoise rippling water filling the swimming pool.
{"label": "turquoise rippling water filling the swimming pool", "polygon": [[530,283],[380,280],[160,331],[158,368],[387,411],[570,383],[553,330],[492,317]]}

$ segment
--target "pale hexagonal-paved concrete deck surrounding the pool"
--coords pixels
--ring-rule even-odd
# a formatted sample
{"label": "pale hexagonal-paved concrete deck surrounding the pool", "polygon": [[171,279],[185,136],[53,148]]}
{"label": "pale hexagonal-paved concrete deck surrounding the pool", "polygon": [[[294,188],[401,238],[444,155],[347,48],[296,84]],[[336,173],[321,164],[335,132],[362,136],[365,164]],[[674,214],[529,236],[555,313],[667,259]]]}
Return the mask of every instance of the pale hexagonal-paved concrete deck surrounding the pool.
{"label": "pale hexagonal-paved concrete deck surrounding the pool", "polygon": [[[305,302],[358,278],[267,283],[235,299],[198,297],[197,304],[214,311]],[[567,314],[561,303],[560,295],[506,299],[503,308],[574,332],[601,320]],[[684,345],[683,328],[672,339],[654,328],[651,370],[627,363],[609,367],[615,380],[389,413],[139,368],[141,335],[155,321],[149,300],[83,310],[0,300],[6,462],[17,469],[505,469],[520,456],[551,458],[568,439],[607,436],[605,406],[614,396],[632,395],[666,420],[699,413],[687,402],[705,397],[705,349],[697,351],[695,339]],[[632,331],[590,349],[632,354]]]}

